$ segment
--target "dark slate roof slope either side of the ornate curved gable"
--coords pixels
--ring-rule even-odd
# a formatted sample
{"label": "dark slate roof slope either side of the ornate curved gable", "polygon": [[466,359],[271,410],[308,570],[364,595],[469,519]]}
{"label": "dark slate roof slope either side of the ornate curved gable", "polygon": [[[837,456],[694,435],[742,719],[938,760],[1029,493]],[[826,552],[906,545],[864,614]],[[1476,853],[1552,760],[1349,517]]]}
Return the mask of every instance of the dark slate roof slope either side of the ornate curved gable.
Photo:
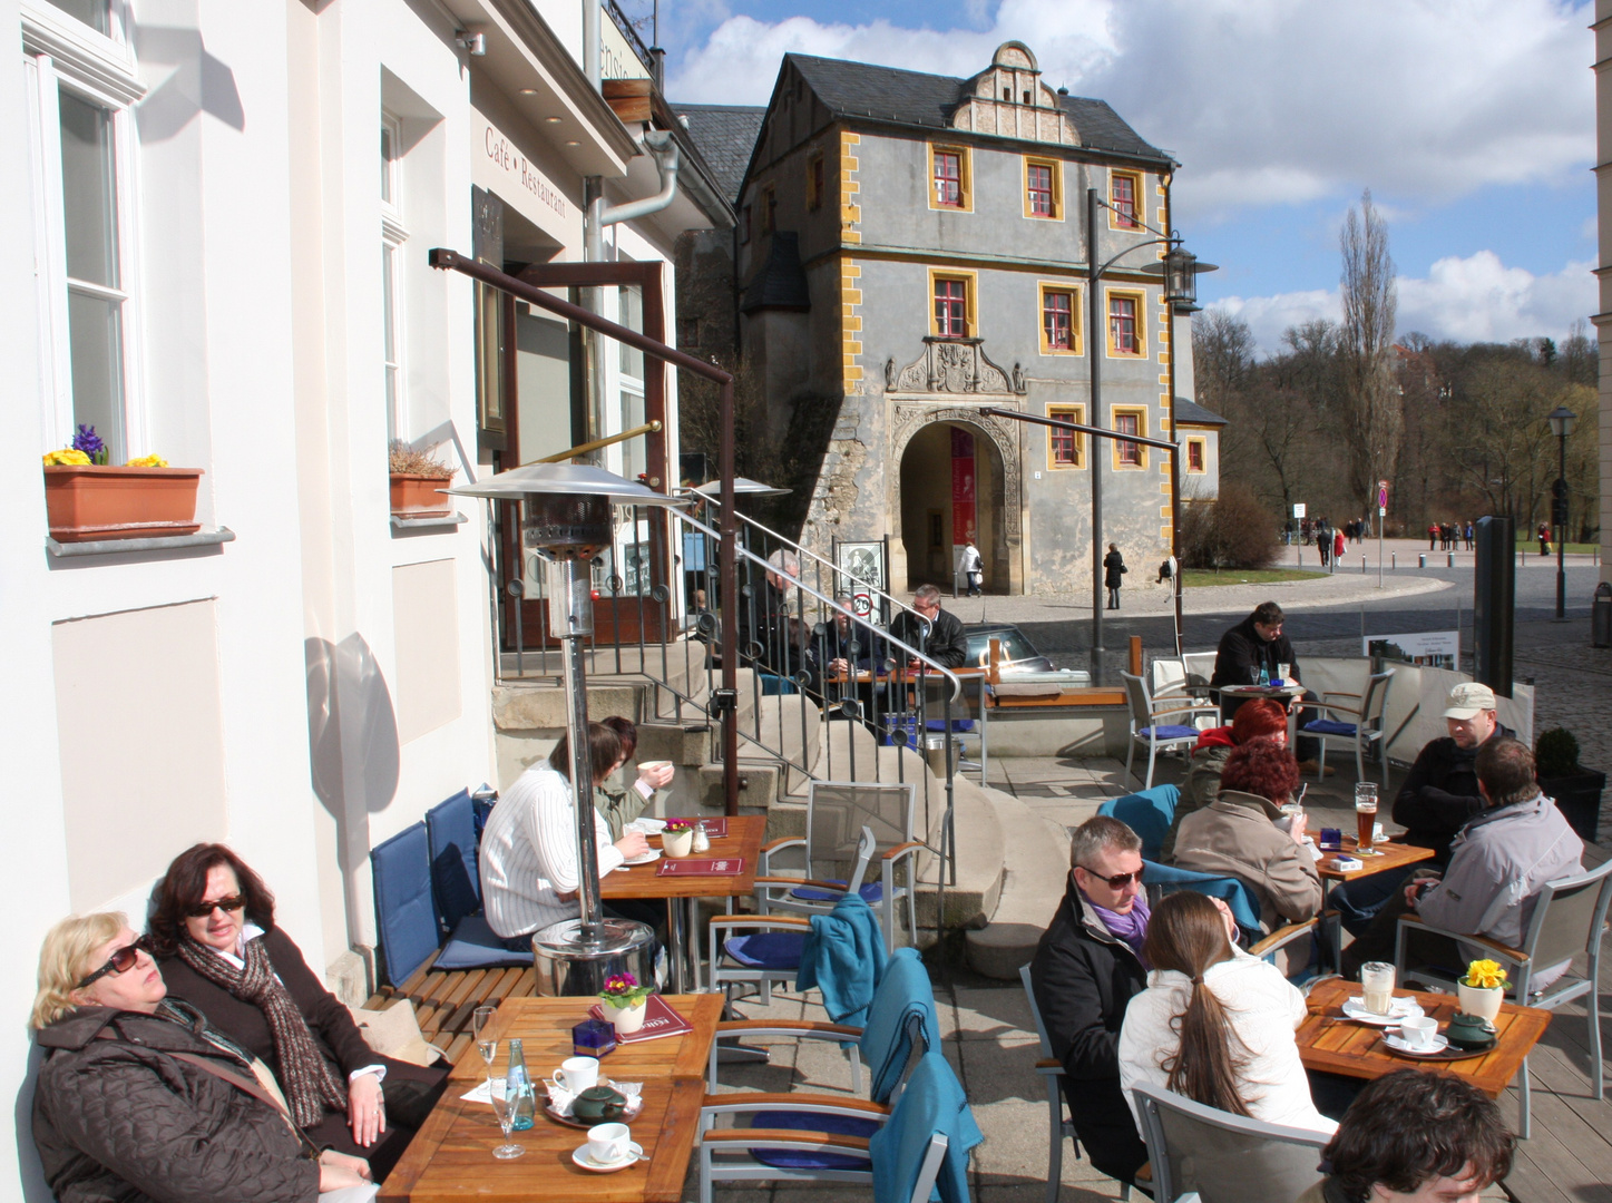
{"label": "dark slate roof slope either side of the ornate curved gable", "polygon": [[[946,129],[951,111],[966,95],[969,81],[954,76],[932,76],[893,66],[851,63],[843,58],[785,55],[837,116],[875,118],[901,126]],[[1117,150],[1170,161],[1170,155],[1145,142],[1106,100],[1061,95],[1080,142],[1093,150]],[[758,124],[759,129],[759,124]],[[754,139],[751,139],[754,140]]]}

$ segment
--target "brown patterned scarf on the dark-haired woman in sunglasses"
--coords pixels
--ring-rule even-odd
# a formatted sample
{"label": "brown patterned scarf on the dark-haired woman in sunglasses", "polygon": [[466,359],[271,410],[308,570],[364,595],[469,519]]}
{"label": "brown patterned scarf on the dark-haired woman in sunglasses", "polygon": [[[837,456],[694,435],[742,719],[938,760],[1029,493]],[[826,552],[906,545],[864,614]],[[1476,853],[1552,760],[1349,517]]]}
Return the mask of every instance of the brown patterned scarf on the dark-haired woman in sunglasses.
{"label": "brown patterned scarf on the dark-haired woman in sunglasses", "polygon": [[229,990],[242,1001],[263,1011],[274,1039],[279,1082],[285,1090],[297,1127],[313,1127],[324,1119],[326,1108],[347,1111],[347,1087],[326,1064],[313,1042],[308,1021],[269,964],[263,937],[247,940],[245,968],[237,969],[216,951],[197,943],[189,934],[179,937],[179,958],[205,979]]}

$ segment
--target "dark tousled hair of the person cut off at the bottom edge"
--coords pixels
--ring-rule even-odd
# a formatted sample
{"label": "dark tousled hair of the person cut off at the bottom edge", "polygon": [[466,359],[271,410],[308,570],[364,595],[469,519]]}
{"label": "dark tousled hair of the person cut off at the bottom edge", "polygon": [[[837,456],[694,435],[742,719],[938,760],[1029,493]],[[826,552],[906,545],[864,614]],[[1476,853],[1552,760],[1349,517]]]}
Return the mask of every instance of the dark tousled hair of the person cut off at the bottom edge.
{"label": "dark tousled hair of the person cut off at the bottom edge", "polygon": [[1477,1203],[1510,1172],[1515,1137],[1475,1085],[1420,1069],[1370,1082],[1296,1203]]}

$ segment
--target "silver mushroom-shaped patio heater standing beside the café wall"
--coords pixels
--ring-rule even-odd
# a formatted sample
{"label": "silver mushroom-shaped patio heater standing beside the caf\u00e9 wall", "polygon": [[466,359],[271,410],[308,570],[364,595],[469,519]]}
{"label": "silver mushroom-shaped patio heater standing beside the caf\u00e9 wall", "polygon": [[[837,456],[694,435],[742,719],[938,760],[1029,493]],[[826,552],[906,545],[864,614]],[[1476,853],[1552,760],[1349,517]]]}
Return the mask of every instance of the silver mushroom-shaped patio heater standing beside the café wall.
{"label": "silver mushroom-shaped patio heater standing beside the caf\u00e9 wall", "polygon": [[563,647],[571,792],[577,813],[577,898],[582,914],[532,935],[540,995],[590,995],[627,971],[654,980],[654,932],[642,922],[606,919],[600,905],[600,863],[593,839],[593,764],[588,758],[585,639],[593,634],[593,560],[611,547],[617,505],[677,505],[614,472],[590,464],[529,464],[480,484],[448,490],[461,497],[522,502],[522,556],[543,561],[548,634]]}

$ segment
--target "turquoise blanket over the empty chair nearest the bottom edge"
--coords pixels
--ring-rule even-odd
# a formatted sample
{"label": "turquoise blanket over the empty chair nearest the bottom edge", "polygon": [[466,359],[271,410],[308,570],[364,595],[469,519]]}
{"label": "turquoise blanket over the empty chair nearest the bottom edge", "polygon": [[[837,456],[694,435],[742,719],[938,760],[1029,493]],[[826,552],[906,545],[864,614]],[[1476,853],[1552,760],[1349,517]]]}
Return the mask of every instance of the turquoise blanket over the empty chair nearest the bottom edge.
{"label": "turquoise blanket over the empty chair nearest the bottom edge", "polygon": [[941,1203],[969,1203],[969,1150],[980,1143],[962,1085],[941,1053],[925,1053],[890,1119],[869,1142],[874,1159],[874,1203],[911,1203],[929,1142],[946,1137],[946,1156],[935,1179]]}

